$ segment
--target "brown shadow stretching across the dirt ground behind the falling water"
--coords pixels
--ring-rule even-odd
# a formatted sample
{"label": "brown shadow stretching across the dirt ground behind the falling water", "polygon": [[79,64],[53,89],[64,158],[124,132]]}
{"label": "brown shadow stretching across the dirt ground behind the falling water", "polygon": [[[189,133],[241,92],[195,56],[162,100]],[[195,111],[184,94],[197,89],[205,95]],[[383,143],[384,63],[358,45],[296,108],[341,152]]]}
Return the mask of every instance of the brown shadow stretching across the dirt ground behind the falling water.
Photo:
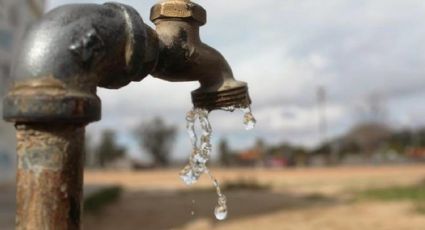
{"label": "brown shadow stretching across the dirt ground behind the falling water", "polygon": [[[268,190],[234,190],[227,191],[226,196],[230,221],[338,203],[320,195],[296,196]],[[126,193],[120,201],[100,213],[86,216],[84,229],[176,229],[197,219],[209,219],[219,224],[213,215],[216,202],[217,196],[213,191]]]}

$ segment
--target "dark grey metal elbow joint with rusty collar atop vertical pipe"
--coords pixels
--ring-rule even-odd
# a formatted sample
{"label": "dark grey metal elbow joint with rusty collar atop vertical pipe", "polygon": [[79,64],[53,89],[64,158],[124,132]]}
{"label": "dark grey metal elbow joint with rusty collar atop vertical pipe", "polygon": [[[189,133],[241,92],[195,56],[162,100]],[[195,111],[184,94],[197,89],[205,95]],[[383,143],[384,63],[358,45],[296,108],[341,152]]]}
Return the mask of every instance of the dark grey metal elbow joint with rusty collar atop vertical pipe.
{"label": "dark grey metal elbow joint with rusty collar atop vertical pipe", "polygon": [[89,123],[100,119],[96,87],[140,81],[155,66],[158,41],[131,7],[59,7],[27,32],[4,99],[15,123]]}

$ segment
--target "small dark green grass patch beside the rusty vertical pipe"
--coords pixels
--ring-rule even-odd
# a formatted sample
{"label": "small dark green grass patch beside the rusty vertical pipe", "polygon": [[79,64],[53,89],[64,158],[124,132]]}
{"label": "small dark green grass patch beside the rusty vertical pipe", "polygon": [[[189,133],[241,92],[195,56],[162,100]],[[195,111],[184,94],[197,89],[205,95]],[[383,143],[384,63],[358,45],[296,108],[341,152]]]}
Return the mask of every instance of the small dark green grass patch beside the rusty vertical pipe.
{"label": "small dark green grass patch beside the rusty vertical pipe", "polygon": [[84,211],[96,213],[104,206],[117,201],[121,194],[122,188],[119,186],[100,189],[84,199]]}

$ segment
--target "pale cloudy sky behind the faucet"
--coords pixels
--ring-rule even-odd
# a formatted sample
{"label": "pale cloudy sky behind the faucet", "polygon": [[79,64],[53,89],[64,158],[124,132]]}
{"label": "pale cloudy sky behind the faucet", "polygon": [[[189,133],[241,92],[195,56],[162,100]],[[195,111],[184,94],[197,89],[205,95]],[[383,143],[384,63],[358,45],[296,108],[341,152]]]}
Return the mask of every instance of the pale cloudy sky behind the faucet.
{"label": "pale cloudy sky behind the faucet", "polygon": [[[104,1],[50,0],[67,3]],[[126,0],[145,22],[156,1]],[[425,1],[423,0],[200,0],[208,11],[203,41],[220,50],[235,77],[248,82],[258,120],[242,126],[242,113],[213,112],[215,141],[225,136],[234,148],[257,138],[314,146],[317,88],[327,90],[328,136],[346,132],[364,118],[370,98],[379,98],[385,121],[395,127],[425,125]],[[179,126],[176,158],[190,143],[184,132],[190,92],[198,83],[146,78],[118,91],[100,90],[103,120],[89,133],[114,128],[119,141],[140,152],[131,130],[159,115]]]}

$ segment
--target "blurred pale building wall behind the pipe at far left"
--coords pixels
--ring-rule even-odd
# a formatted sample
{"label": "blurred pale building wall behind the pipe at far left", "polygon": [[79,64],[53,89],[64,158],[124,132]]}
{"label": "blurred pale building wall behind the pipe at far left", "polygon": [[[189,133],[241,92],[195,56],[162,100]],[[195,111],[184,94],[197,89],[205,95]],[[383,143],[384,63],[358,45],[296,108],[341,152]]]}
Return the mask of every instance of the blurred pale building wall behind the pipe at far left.
{"label": "blurred pale building wall behind the pipe at far left", "polygon": [[[44,5],[44,0],[0,0],[0,100],[10,81],[12,57],[19,48],[19,38],[43,14]],[[0,182],[14,175],[15,148],[13,127],[0,119]]]}

